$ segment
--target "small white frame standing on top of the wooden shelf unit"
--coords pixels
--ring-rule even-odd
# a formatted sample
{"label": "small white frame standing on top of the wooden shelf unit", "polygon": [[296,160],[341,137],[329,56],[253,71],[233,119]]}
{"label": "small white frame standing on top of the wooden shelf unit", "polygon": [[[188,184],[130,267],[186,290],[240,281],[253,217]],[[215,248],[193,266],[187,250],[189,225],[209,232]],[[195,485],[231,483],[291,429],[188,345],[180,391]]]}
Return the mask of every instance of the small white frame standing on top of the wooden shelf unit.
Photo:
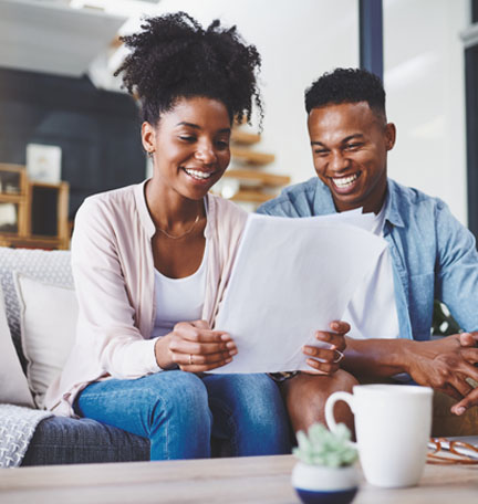
{"label": "small white frame standing on top of the wooden shelf unit", "polygon": [[61,181],[61,147],[54,145],[27,145],[27,175],[37,182]]}

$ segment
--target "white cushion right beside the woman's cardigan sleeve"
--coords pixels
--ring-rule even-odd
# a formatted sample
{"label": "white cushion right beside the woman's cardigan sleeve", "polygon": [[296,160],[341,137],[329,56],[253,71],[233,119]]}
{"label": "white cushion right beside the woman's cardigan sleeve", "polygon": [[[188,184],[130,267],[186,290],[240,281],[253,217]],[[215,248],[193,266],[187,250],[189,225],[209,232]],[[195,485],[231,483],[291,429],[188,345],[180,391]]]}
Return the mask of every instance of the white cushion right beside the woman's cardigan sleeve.
{"label": "white cushion right beside the woman's cardigan sleeve", "polygon": [[14,274],[27,378],[35,403],[43,407],[50,384],[63,369],[75,339],[77,302],[72,288]]}

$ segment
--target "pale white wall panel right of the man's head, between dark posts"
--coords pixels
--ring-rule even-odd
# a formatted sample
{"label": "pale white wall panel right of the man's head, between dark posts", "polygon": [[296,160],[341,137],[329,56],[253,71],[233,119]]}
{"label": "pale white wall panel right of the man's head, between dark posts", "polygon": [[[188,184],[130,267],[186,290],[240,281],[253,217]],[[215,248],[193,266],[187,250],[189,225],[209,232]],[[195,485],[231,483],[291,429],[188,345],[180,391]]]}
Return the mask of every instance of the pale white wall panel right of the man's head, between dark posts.
{"label": "pale white wall panel right of the man's head, between dark posts", "polygon": [[467,222],[465,70],[468,0],[384,0],[388,156],[397,181],[443,198]]}

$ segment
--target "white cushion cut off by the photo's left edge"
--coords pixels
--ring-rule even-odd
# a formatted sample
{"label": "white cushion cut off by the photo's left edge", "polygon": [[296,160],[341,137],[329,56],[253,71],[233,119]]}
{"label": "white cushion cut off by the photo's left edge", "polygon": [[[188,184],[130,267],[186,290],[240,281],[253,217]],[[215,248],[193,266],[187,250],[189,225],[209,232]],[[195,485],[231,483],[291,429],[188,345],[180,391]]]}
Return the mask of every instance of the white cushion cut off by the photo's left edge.
{"label": "white cushion cut off by the photo's left edge", "polygon": [[33,406],[27,377],[14,349],[0,290],[0,402]]}

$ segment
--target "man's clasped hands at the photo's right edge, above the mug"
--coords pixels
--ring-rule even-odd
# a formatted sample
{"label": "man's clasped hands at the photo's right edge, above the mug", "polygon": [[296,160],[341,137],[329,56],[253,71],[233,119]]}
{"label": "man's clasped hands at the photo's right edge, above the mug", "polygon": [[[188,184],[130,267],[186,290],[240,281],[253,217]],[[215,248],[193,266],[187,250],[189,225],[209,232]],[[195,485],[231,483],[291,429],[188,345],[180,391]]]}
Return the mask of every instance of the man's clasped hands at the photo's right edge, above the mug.
{"label": "man's clasped hands at the photo's right edge, above the mug", "polygon": [[406,370],[418,384],[454,397],[459,402],[451,412],[461,414],[478,406],[478,390],[467,378],[478,381],[478,333],[454,334],[434,342],[411,342],[407,346]]}

